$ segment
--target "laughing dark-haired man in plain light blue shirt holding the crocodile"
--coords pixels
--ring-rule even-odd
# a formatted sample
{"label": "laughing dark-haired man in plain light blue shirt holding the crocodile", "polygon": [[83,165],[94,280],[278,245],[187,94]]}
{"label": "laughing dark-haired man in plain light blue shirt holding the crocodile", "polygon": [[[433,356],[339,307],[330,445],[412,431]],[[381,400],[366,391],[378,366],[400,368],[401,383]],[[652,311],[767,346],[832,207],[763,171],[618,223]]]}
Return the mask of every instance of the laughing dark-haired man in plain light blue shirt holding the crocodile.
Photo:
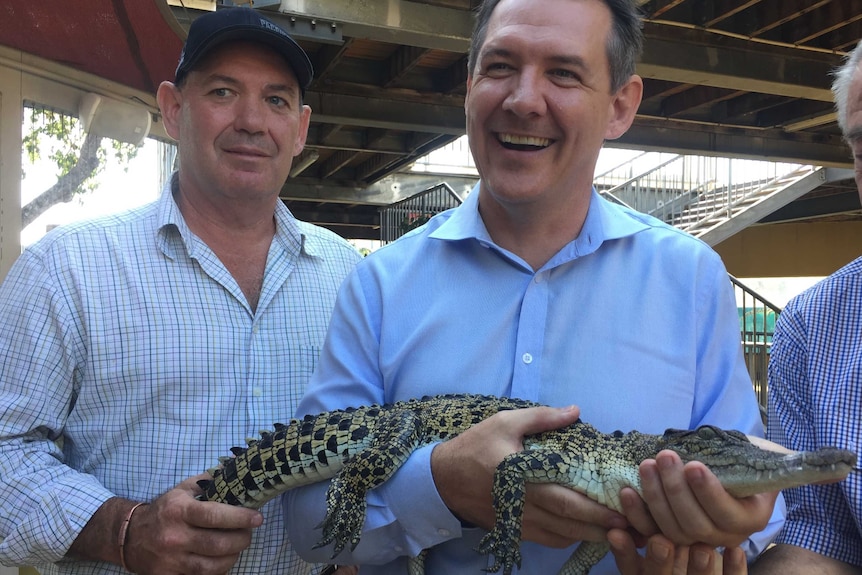
{"label": "laughing dark-haired man in plain light blue shirt holding the crocodile", "polygon": [[[623,134],[641,99],[640,21],[629,0],[500,0],[480,9],[468,66],[467,133],[480,183],[465,203],[360,262],[339,292],[318,371],[298,415],[426,394],[484,393],[577,404],[605,432],[710,423],[762,436],[742,362],[736,303],[702,242],[600,198],[604,140]],[[422,448],[368,494],[354,552],[360,572],[404,573],[430,549],[432,575],[481,573],[473,551],[493,523],[491,473],[524,434],[570,423],[575,409],[495,416]],[[642,466],[645,501],[625,516],[557,485],[527,493],[519,573],[556,573],[582,540],[610,537],[618,567],[641,572],[622,529],[661,531],[756,554],[777,530],[776,494],[736,500],[700,464],[665,452]],[[288,493],[291,541],[308,559],[326,484]],[[608,531],[613,530],[610,535]],[[653,543],[659,543],[654,540]],[[662,571],[667,540],[651,553]],[[650,545],[650,551],[653,546]],[[685,570],[687,549],[680,549]],[[594,573],[616,572],[608,557]],[[728,571],[729,572],[729,571]]]}

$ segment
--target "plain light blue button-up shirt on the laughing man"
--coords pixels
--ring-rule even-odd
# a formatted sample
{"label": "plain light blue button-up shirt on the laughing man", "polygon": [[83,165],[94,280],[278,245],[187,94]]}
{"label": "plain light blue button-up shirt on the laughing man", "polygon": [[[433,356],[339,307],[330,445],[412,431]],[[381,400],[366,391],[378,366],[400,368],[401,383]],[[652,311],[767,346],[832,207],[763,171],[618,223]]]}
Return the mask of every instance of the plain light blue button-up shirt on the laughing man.
{"label": "plain light blue button-up shirt on the laughing man", "polygon": [[[360,262],[339,292],[320,365],[298,415],[440,393],[577,404],[605,432],[711,423],[763,435],[742,361],[736,303],[709,247],[593,193],[579,237],[541,269],[495,245],[465,203]],[[430,575],[481,573],[483,532],[462,529],[415,452],[368,496],[355,552],[363,575],[405,573],[431,548]],[[285,497],[290,538],[313,550],[327,484]],[[757,538],[763,547],[780,524]],[[436,546],[436,547],[435,547]],[[556,573],[572,549],[524,543],[519,573]],[[592,573],[615,572],[606,558]]]}

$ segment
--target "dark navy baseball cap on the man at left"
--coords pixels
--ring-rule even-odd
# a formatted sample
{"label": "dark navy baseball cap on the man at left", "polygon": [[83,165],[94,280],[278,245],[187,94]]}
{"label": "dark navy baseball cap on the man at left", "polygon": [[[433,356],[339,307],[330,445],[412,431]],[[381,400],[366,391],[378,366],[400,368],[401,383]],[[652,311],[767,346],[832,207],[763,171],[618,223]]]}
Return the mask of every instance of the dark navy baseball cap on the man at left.
{"label": "dark navy baseball cap on the man at left", "polygon": [[305,50],[280,26],[261,16],[252,8],[223,8],[196,18],[180,54],[174,82],[179,84],[207,53],[234,40],[262,42],[282,55],[296,75],[302,94],[311,84],[314,69]]}

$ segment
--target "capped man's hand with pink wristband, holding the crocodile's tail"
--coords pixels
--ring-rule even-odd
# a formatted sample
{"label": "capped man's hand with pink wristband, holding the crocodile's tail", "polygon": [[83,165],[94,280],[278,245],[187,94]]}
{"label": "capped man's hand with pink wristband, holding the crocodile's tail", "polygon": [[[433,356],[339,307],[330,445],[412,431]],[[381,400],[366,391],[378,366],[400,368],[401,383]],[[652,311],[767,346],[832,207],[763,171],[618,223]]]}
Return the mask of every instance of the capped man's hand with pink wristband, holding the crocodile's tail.
{"label": "capped man's hand with pink wristband, holding the crocodile's tail", "polygon": [[227,573],[263,523],[259,511],[195,499],[197,481],[187,479],[140,507],[126,535],[126,564],[134,573],[173,575]]}

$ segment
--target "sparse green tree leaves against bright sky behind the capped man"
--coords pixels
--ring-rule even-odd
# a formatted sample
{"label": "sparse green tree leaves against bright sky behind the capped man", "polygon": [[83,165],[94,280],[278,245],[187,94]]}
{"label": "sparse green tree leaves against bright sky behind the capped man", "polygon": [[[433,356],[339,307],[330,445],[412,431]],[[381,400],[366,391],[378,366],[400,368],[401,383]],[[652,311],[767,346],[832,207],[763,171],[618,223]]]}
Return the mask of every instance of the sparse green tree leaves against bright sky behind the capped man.
{"label": "sparse green tree leaves against bright sky behind the capped man", "polygon": [[[29,161],[29,164],[23,166],[23,177],[27,177],[28,165],[32,167],[42,158],[49,159],[56,166],[58,180],[68,174],[78,163],[86,134],[77,118],[51,110],[27,108],[23,131],[23,151]],[[97,152],[98,165],[78,186],[76,193],[96,189],[98,186],[96,176],[105,169],[108,161],[113,160],[122,166],[128,166],[129,161],[137,153],[136,146],[116,140],[107,140],[106,143],[103,138]]]}

